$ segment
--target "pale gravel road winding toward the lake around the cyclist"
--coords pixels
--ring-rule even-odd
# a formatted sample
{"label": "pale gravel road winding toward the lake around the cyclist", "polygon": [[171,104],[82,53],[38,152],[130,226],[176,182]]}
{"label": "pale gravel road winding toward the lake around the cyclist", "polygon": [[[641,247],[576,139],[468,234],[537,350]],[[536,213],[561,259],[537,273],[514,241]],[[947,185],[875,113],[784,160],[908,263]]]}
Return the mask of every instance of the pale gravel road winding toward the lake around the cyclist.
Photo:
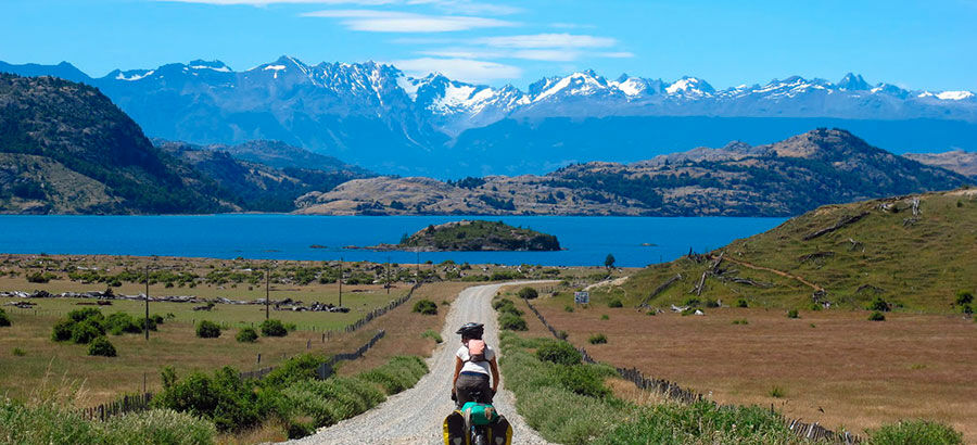
{"label": "pale gravel road winding toward the lake around the cyclist", "polygon": [[[451,400],[455,352],[460,338],[459,326],[475,321],[485,325],[485,342],[498,346],[498,326],[492,309],[492,296],[499,288],[515,283],[468,288],[451,305],[441,335],[445,342],[428,359],[431,369],[413,389],[396,394],[376,408],[352,419],[325,428],[293,444],[443,444],[442,423],[454,409]],[[516,412],[515,397],[499,385],[494,405],[512,424],[513,444],[548,444],[530,429]]]}

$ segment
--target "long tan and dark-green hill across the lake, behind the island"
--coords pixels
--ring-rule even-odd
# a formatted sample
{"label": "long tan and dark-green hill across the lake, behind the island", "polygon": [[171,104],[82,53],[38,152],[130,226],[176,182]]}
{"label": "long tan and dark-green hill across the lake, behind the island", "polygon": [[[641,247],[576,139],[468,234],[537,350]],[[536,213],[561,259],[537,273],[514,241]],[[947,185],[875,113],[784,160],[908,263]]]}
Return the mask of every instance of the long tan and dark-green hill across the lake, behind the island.
{"label": "long tan and dark-green hill across the lake, behind the island", "polygon": [[544,176],[360,179],[309,193],[297,205],[309,214],[791,216],[973,182],[846,130],[820,128],[769,145],[734,142],[634,164],[576,164]]}

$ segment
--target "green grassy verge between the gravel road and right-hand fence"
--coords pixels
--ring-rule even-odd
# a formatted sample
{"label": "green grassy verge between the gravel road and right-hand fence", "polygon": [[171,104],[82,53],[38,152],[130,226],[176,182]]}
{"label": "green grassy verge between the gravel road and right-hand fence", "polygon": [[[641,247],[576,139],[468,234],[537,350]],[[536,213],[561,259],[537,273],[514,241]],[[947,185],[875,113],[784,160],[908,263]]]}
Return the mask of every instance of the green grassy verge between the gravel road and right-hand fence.
{"label": "green grassy verge between the gravel road and right-hand fence", "polygon": [[[536,354],[559,344],[550,339],[502,335],[506,387],[526,423],[546,440],[564,444],[796,443],[779,418],[757,407],[711,403],[638,406],[612,395],[604,365],[556,364]],[[571,347],[572,349],[572,347]],[[733,425],[737,425],[733,428]]]}

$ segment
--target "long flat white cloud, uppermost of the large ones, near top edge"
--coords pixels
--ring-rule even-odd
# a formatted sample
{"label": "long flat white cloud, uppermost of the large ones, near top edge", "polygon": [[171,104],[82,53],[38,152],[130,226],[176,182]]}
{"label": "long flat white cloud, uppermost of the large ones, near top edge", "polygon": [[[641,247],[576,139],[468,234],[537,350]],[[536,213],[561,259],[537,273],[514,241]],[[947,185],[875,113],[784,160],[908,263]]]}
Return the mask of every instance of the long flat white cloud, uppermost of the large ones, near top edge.
{"label": "long flat white cloud, uppermost of the large ones, near top edge", "polygon": [[447,33],[516,25],[515,23],[496,18],[462,15],[427,15],[377,10],[326,10],[307,12],[302,15],[306,17],[343,18],[343,25],[350,29],[373,33]]}

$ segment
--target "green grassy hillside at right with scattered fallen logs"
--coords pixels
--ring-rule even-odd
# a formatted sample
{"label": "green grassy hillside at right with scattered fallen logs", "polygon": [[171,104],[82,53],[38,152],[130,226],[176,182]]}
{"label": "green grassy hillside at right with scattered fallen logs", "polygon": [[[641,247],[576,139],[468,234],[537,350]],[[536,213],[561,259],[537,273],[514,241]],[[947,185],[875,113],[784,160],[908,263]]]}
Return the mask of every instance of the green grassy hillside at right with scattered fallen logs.
{"label": "green grassy hillside at right with scattered fallen logs", "polygon": [[964,188],[823,206],[708,254],[648,267],[595,298],[652,307],[743,298],[807,309],[815,302],[863,308],[880,297],[893,309],[951,313],[962,309],[957,292],[975,289],[977,189]]}

